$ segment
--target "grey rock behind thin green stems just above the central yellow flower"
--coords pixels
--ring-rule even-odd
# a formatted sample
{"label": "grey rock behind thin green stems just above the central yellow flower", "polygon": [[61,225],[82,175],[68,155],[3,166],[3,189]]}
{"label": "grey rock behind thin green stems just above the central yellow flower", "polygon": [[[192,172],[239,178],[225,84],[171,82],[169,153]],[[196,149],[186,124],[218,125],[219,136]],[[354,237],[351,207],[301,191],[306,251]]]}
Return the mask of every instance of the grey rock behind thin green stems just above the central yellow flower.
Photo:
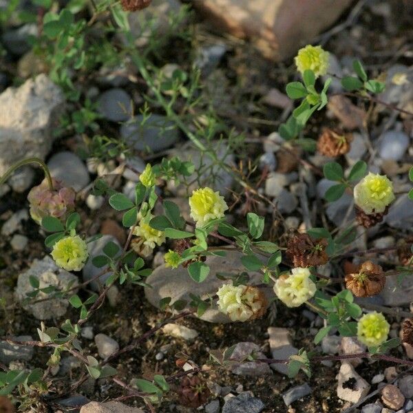
{"label": "grey rock behind thin green stems just above the central yellow flower", "polygon": [[[228,153],[228,148],[222,144],[222,142],[211,142],[211,147],[214,148],[217,158],[226,166],[235,165],[235,158],[233,153]],[[202,153],[199,149],[195,149],[191,144],[182,145],[182,147],[173,149],[171,156],[177,156],[182,161],[190,161],[195,165],[195,171],[202,170],[200,174],[199,182],[194,182],[187,188],[187,186],[180,184],[178,187],[173,181],[167,182],[167,187],[175,195],[187,196],[187,191],[191,193],[193,189],[197,189],[206,184],[213,187],[215,191],[220,191],[221,195],[227,195],[231,189],[234,178],[233,173],[226,171],[220,165],[213,165],[213,161],[209,156]],[[196,180],[197,173],[187,178],[188,182]],[[213,177],[213,182],[211,178]]]}

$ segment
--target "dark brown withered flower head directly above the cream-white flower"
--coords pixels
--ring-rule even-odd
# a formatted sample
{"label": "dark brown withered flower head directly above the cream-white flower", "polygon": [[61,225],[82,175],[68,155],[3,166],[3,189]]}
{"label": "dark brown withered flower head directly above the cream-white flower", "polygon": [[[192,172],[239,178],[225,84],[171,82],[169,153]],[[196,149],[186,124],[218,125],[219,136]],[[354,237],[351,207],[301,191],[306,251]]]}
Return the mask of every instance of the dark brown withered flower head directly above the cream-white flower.
{"label": "dark brown withered flower head directly above the cream-white flower", "polygon": [[294,235],[287,243],[286,254],[295,267],[324,265],[328,262],[325,238],[313,240],[308,234]]}

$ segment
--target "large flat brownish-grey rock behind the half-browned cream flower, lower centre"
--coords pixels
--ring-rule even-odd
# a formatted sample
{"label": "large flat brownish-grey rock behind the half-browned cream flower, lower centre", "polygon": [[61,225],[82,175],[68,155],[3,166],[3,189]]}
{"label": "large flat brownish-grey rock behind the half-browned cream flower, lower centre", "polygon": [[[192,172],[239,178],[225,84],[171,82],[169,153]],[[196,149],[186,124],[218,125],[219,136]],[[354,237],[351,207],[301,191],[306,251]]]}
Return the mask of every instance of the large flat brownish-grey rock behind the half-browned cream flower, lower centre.
{"label": "large flat brownish-grey rock behind the half-browned cream flower, lower centre", "polygon": [[[198,283],[193,281],[188,275],[186,268],[167,268],[164,265],[158,266],[153,273],[147,277],[146,282],[151,286],[145,287],[145,296],[147,300],[155,307],[159,308],[159,301],[165,297],[171,297],[171,302],[178,299],[191,300],[189,294],[198,295],[199,297],[208,297],[214,295],[218,288],[224,282],[215,277],[216,273],[236,274],[245,271],[240,261],[241,254],[237,252],[227,252],[225,257],[210,256],[207,257],[207,265],[210,273],[204,282]],[[250,282],[248,284],[262,284],[262,275],[260,273],[250,273]],[[268,297],[273,297],[272,288],[264,290]],[[204,321],[213,323],[228,323],[229,317],[220,313],[218,307],[213,304],[211,308],[205,311],[200,317]]]}

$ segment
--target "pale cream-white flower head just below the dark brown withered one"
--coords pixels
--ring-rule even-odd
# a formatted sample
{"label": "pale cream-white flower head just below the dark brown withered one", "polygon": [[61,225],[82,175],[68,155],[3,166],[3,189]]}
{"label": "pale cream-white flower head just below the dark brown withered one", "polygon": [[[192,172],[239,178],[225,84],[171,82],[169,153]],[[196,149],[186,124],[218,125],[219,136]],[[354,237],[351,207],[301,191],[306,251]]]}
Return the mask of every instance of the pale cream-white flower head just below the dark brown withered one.
{"label": "pale cream-white flower head just below the dark brown withered one", "polygon": [[287,307],[298,307],[315,295],[317,287],[308,268],[293,268],[290,275],[281,275],[274,285],[275,295]]}

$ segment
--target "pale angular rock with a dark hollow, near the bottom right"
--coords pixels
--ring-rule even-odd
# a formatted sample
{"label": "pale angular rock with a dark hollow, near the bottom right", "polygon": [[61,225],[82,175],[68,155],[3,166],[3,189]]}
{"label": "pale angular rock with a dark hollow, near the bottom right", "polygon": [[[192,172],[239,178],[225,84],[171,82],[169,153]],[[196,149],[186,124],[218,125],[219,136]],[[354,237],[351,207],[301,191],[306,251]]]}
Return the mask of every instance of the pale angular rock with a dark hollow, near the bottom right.
{"label": "pale angular rock with a dark hollow, near the bottom right", "polygon": [[354,370],[350,363],[341,364],[338,381],[337,396],[351,403],[360,401],[370,390],[370,384]]}

